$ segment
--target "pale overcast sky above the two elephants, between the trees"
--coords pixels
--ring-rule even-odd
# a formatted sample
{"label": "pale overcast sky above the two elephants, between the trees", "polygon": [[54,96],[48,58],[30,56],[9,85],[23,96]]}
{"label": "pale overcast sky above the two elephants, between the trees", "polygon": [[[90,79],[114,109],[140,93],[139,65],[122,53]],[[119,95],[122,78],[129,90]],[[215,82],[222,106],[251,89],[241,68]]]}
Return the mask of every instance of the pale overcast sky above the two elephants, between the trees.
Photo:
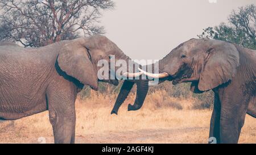
{"label": "pale overcast sky above the two elephants, between the trees", "polygon": [[[203,28],[226,22],[233,9],[256,0],[113,0],[101,24],[132,59],[160,59]],[[217,1],[210,3],[209,1]]]}

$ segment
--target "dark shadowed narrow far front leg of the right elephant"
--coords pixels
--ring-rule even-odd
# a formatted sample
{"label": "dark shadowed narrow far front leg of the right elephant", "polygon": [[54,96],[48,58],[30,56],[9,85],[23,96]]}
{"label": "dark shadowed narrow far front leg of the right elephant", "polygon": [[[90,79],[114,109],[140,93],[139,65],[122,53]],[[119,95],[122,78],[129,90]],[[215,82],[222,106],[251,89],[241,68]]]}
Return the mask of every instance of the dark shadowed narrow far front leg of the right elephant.
{"label": "dark shadowed narrow far front leg of the right elephant", "polygon": [[216,143],[220,143],[220,107],[218,94],[214,93],[214,107],[212,118],[210,119],[209,143],[214,143],[214,138],[216,139]]}

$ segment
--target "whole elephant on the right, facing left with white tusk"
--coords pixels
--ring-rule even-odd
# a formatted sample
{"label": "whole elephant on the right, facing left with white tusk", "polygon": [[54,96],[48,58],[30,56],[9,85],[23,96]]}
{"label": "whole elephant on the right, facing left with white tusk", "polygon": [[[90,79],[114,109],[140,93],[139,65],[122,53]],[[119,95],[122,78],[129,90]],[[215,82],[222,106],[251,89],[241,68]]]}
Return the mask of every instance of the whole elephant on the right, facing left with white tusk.
{"label": "whole elephant on the right, facing left with white tusk", "polygon": [[193,93],[213,90],[209,137],[238,143],[246,113],[256,118],[256,51],[219,40],[191,39],[159,61],[160,74],[176,85],[192,82]]}

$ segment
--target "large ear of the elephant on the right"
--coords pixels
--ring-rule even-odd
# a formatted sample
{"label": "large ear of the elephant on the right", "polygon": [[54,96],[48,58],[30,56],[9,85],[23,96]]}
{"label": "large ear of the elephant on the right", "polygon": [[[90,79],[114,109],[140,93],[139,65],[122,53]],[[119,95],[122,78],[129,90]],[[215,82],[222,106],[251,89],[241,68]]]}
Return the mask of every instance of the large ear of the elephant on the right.
{"label": "large ear of the elephant on the right", "polygon": [[230,43],[214,45],[207,51],[205,65],[200,73],[198,89],[208,91],[234,77],[239,66],[239,53]]}

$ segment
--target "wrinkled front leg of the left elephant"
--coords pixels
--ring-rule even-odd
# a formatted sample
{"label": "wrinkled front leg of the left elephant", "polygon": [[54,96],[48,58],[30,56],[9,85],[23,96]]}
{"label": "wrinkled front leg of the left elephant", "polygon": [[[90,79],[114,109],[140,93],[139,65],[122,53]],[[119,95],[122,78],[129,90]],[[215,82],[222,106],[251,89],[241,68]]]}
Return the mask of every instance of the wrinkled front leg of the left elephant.
{"label": "wrinkled front leg of the left elephant", "polygon": [[47,91],[49,120],[52,124],[55,143],[75,143],[75,99],[74,88],[56,87]]}

